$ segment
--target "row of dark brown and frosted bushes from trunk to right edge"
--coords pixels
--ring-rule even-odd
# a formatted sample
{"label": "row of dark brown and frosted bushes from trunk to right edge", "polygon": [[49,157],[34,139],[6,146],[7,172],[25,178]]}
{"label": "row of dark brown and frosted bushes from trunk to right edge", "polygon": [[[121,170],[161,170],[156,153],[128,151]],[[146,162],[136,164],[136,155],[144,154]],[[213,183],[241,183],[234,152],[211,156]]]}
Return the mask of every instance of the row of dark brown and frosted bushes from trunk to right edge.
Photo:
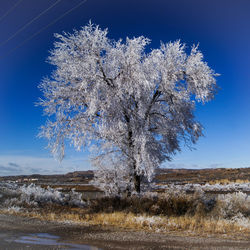
{"label": "row of dark brown and frosted bushes from trunk to right edge", "polygon": [[94,212],[131,212],[135,214],[196,216],[250,219],[250,196],[245,193],[211,195],[203,191],[187,194],[178,190],[165,193],[142,193],[133,197],[103,197],[93,201]]}

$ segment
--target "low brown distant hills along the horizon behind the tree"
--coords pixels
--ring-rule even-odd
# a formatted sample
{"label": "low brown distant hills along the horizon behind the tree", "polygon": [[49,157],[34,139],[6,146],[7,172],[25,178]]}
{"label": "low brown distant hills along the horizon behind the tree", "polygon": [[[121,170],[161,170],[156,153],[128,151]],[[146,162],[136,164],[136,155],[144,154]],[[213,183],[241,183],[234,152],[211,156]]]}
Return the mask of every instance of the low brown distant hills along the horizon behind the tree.
{"label": "low brown distant hills along the horizon behind the tree", "polygon": [[[0,177],[0,181],[20,181],[39,183],[83,183],[93,179],[94,171],[75,171],[56,175],[19,175]],[[208,182],[250,182],[250,168],[217,168],[217,169],[166,169],[157,170],[154,181],[157,183],[208,183]]]}

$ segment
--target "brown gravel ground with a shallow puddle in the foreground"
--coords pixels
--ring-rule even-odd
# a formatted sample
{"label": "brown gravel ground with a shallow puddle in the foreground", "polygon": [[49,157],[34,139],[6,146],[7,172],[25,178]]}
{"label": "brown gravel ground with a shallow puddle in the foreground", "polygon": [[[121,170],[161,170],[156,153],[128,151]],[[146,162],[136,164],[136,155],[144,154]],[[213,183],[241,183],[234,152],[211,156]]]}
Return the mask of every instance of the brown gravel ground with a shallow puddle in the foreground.
{"label": "brown gravel ground with a shallow puddle in the foreground", "polygon": [[250,237],[176,236],[0,214],[0,249],[250,249]]}

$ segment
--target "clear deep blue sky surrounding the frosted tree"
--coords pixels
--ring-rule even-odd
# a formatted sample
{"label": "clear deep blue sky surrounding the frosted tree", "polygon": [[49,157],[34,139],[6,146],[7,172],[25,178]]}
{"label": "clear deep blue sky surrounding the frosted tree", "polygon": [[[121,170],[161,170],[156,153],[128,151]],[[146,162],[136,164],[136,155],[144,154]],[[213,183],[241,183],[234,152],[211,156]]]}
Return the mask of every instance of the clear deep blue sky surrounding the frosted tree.
{"label": "clear deep blue sky surrounding the frosted tree", "polygon": [[61,164],[53,160],[47,142],[36,137],[46,117],[34,105],[41,97],[38,84],[53,69],[46,63],[53,34],[72,32],[90,19],[114,39],[144,35],[152,48],[176,39],[188,46],[199,43],[209,66],[221,74],[215,99],[196,110],[205,137],[196,150],[183,148],[166,167],[250,166],[249,0],[87,0],[15,49],[81,1],[61,0],[7,43],[56,0],[23,0],[6,16],[18,0],[0,2],[0,175],[90,168],[89,154],[73,149]]}

